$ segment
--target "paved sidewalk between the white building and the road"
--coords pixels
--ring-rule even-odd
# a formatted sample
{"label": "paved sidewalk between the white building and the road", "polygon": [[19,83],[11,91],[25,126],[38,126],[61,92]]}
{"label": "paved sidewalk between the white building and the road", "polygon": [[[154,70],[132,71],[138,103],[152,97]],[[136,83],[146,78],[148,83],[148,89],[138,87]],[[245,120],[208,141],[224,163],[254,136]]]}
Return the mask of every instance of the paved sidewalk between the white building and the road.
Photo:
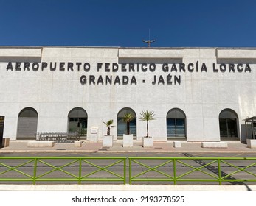
{"label": "paved sidewalk between the white building and the road", "polygon": [[173,141],[155,141],[153,148],[144,148],[142,141],[134,141],[131,148],[122,147],[122,141],[114,141],[113,147],[104,148],[102,141],[90,143],[83,141],[81,147],[75,147],[74,143],[55,143],[54,147],[28,147],[28,141],[10,141],[10,146],[0,149],[1,153],[10,152],[223,152],[223,153],[255,153],[256,148],[248,148],[240,141],[226,141],[227,148],[202,148],[200,142],[181,141],[181,147],[173,147]]}

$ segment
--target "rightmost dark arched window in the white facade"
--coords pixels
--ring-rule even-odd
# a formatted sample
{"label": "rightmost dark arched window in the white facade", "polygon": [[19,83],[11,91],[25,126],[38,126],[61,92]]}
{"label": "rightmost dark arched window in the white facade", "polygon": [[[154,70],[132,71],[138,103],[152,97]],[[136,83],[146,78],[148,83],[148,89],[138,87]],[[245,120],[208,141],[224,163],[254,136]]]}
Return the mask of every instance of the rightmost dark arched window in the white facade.
{"label": "rightmost dark arched window in the white facade", "polygon": [[222,110],[219,115],[221,138],[238,138],[238,115],[231,109]]}

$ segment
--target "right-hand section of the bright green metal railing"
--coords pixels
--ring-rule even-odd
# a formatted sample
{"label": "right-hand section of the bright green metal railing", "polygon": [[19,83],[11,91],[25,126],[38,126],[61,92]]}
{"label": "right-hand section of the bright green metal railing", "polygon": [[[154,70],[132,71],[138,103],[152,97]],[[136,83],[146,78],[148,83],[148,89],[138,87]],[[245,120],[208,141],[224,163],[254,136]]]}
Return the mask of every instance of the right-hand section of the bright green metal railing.
{"label": "right-hand section of the bright green metal railing", "polygon": [[[256,182],[255,157],[129,157],[133,182]],[[157,161],[157,164],[154,162]],[[142,167],[134,174],[135,166]]]}

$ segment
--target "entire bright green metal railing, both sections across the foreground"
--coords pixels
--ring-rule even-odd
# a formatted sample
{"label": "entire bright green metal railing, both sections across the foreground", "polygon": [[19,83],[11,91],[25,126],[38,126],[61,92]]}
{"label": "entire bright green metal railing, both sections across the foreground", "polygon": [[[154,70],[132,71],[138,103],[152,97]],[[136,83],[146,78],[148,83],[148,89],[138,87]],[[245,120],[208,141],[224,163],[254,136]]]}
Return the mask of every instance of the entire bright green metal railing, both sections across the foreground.
{"label": "entire bright green metal railing, both sections across the foreground", "polygon": [[[256,157],[0,157],[4,182],[256,182]],[[126,174],[128,168],[128,177]]]}

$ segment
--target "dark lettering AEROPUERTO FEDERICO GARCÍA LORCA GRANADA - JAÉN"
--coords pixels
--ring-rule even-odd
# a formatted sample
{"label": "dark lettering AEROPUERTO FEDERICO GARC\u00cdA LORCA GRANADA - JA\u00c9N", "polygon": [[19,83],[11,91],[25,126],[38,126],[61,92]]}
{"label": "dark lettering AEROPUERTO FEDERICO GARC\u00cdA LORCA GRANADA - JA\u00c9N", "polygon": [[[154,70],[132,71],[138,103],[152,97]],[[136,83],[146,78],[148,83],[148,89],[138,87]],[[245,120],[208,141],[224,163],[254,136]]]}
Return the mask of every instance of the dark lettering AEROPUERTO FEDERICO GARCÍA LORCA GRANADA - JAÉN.
{"label": "dark lettering AEROPUERTO FEDERICO GARC\u00cdA LORCA GRANADA - JA\u00c9N", "polygon": [[[81,63],[81,62],[9,62],[7,71],[80,72],[81,85],[137,85],[138,81],[151,85],[180,85],[182,73],[246,73],[249,63]],[[162,74],[159,74],[159,70]],[[156,71],[157,74],[156,74]],[[152,74],[151,79],[139,79],[137,74]]]}

